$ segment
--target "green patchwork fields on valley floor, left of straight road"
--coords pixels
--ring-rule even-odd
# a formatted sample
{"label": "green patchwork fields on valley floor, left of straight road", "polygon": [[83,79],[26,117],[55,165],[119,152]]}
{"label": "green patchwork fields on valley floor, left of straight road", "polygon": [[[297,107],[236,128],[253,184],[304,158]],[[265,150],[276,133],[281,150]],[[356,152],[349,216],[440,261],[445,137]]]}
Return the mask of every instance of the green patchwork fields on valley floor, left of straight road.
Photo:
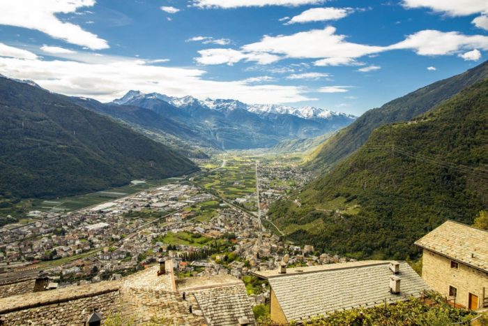
{"label": "green patchwork fields on valley floor, left of straight road", "polygon": [[256,165],[249,158],[234,156],[226,160],[224,167],[213,170],[206,175],[195,178],[200,186],[215,191],[217,195],[227,200],[247,198],[242,203],[245,208],[255,211],[256,200]]}

